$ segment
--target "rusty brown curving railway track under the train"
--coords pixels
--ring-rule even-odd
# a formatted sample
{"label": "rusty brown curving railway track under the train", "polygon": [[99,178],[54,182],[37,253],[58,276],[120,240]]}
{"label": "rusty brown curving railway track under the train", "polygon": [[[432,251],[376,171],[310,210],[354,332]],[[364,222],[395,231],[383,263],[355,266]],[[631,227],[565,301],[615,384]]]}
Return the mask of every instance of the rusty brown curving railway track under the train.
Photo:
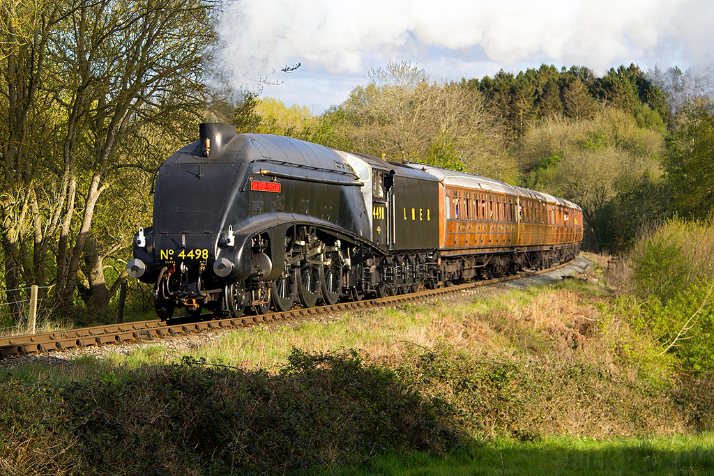
{"label": "rusty brown curving railway track under the train", "polygon": [[[570,262],[572,263],[572,262]],[[143,340],[154,340],[161,338],[172,338],[177,336],[191,335],[192,333],[210,332],[211,330],[239,328],[246,325],[261,323],[272,323],[281,320],[291,320],[295,318],[305,318],[306,316],[317,316],[321,314],[337,313],[346,310],[357,310],[373,307],[386,307],[401,303],[423,300],[425,298],[435,298],[448,293],[456,293],[461,290],[475,288],[477,286],[493,285],[503,283],[508,280],[517,280],[528,276],[549,273],[558,270],[570,263],[548,268],[546,270],[522,273],[519,275],[506,276],[491,280],[477,281],[462,285],[454,285],[448,288],[438,288],[435,290],[421,290],[417,293],[396,295],[387,298],[366,299],[361,301],[350,301],[337,303],[334,305],[316,306],[314,308],[296,308],[284,313],[268,313],[263,315],[244,315],[242,318],[225,318],[213,320],[199,320],[196,317],[185,316],[183,318],[172,318],[168,323],[161,320],[143,320],[134,323],[99,325],[91,328],[58,330],[51,333],[14,335],[0,337],[0,359],[13,355],[29,355],[51,353],[56,350],[72,350],[90,346],[136,343]],[[206,315],[208,316],[208,315]]]}

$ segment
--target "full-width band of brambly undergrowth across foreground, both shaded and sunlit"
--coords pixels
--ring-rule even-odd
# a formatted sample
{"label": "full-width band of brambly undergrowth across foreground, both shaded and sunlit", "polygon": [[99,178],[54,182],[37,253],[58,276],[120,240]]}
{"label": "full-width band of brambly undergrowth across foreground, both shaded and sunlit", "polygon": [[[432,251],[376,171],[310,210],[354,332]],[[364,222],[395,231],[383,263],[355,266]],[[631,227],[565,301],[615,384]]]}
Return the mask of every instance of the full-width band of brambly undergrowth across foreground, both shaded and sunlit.
{"label": "full-width band of brambly undergrowth across foreground, both shaded and sunlit", "polygon": [[0,382],[0,468],[22,475],[292,474],[503,437],[673,435],[714,426],[700,381],[663,388],[583,361],[439,345],[390,370],[293,350],[278,373],[184,358],[65,385]]}

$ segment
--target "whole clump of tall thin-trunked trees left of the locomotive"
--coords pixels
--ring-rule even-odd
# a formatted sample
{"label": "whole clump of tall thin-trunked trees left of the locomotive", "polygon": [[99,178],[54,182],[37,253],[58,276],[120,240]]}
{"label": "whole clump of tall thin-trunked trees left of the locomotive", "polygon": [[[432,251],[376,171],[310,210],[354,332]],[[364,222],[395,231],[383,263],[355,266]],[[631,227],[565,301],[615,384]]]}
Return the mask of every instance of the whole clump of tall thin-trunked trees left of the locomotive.
{"label": "whole clump of tall thin-trunked trees left of the locomotive", "polygon": [[[0,9],[6,285],[54,280],[57,302],[70,307],[81,275],[91,293],[102,289],[107,251],[131,244],[133,233],[91,243],[102,194],[130,168],[153,171],[149,151],[161,137],[196,121],[211,3],[31,0]],[[94,244],[103,249],[85,255]],[[81,272],[86,260],[97,273]]]}

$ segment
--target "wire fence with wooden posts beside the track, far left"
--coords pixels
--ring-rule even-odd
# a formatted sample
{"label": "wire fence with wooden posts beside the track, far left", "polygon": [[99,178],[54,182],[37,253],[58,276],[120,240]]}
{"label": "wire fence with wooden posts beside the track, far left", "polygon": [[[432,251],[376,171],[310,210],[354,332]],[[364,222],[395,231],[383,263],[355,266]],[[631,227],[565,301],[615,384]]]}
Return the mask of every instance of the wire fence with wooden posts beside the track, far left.
{"label": "wire fence with wooden posts beside the track, far left", "polygon": [[[48,305],[49,296],[54,286],[37,286],[36,298],[37,327],[49,323],[52,307]],[[0,333],[13,333],[15,330],[26,330],[31,313],[31,290],[27,288],[0,289]],[[17,296],[19,295],[19,298]]]}

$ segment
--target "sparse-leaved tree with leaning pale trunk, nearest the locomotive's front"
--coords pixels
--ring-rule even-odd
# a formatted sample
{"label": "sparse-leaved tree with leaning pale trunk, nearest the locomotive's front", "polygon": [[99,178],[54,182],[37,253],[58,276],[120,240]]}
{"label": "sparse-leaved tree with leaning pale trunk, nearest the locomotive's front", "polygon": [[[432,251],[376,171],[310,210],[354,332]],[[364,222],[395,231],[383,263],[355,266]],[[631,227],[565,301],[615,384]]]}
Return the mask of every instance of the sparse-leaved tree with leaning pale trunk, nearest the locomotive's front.
{"label": "sparse-leaved tree with leaning pale trunk, nearest the locomotive's front", "polygon": [[199,0],[84,0],[67,16],[74,34],[57,37],[55,58],[66,78],[57,95],[68,118],[64,161],[91,178],[81,182],[81,221],[60,236],[56,293],[65,306],[99,198],[125,158],[122,138],[149,123],[172,127],[172,113],[185,117],[201,107],[203,51],[213,40],[209,8]]}

